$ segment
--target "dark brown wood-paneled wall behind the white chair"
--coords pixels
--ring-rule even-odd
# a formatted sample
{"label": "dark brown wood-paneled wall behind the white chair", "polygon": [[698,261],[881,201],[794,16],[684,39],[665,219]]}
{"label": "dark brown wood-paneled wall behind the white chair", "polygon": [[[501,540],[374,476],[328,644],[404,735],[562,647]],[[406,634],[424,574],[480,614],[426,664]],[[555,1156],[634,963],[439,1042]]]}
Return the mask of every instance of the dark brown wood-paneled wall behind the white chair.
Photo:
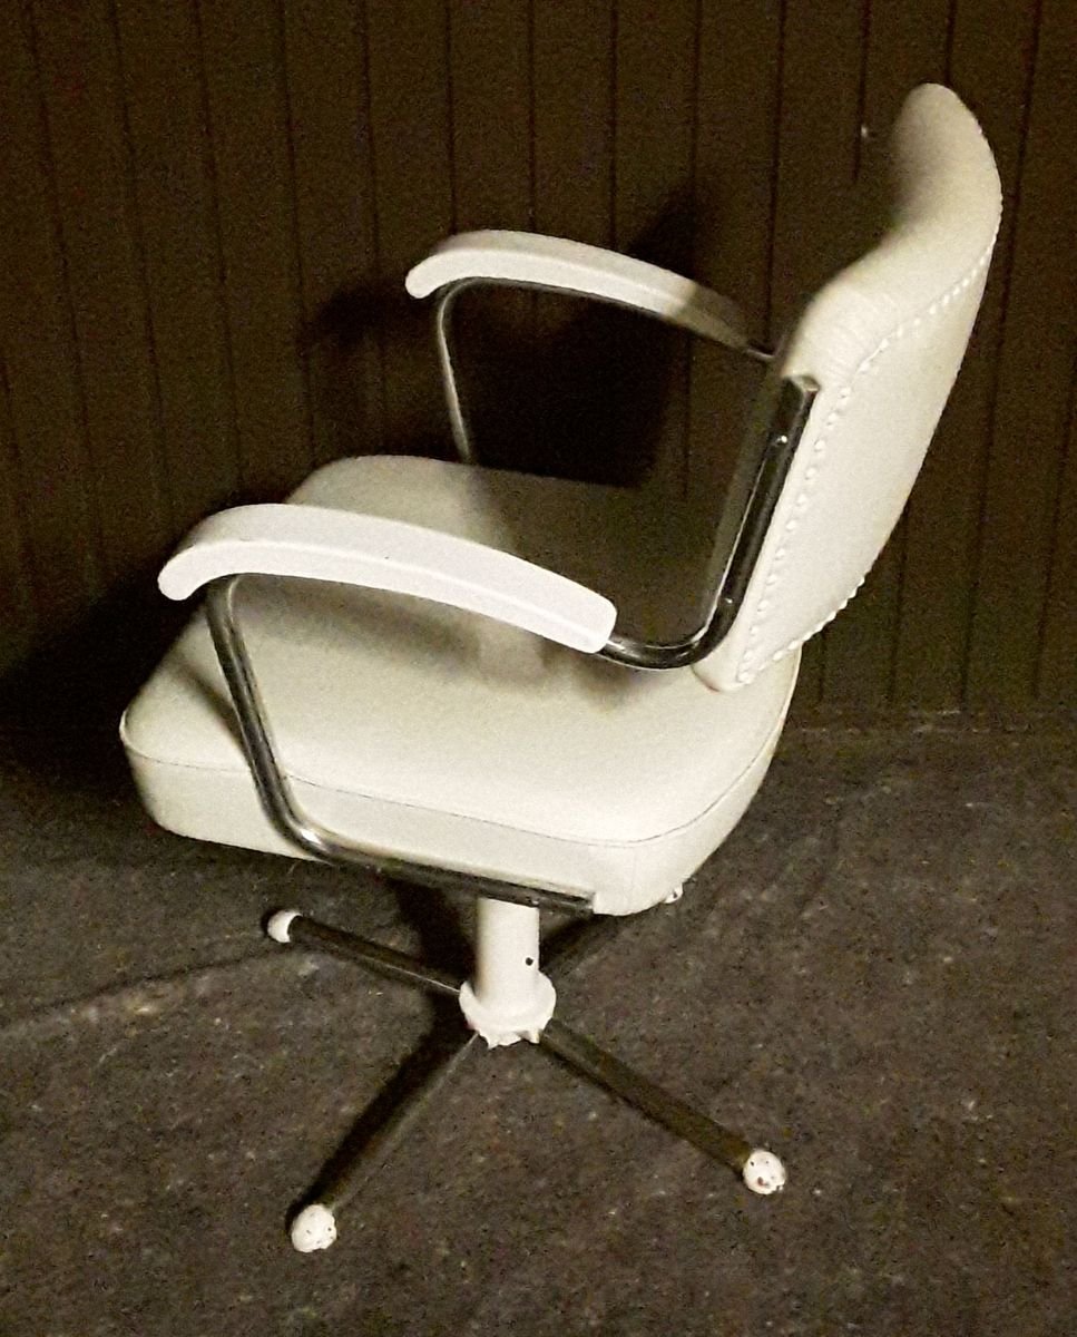
{"label": "dark brown wood-paneled wall behind the white chair", "polygon": [[[772,337],[930,79],[979,116],[1005,225],[914,500],[802,705],[1077,703],[1073,44],[1069,0],[8,0],[0,668],[222,504],[445,453],[401,279],[453,230],[632,250]],[[498,463],[714,491],[746,393],[720,353],[529,297],[469,330]]]}

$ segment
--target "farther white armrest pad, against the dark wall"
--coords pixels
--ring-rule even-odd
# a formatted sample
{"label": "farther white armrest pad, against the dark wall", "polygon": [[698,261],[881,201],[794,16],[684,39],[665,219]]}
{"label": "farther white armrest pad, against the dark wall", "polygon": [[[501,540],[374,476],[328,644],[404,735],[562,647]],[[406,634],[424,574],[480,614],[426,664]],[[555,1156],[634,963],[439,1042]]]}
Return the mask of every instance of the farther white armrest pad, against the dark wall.
{"label": "farther white armrest pad, against the dark wall", "polygon": [[732,349],[742,349],[748,342],[740,308],[702,283],[600,246],[537,233],[485,231],[452,237],[416,265],[405,286],[412,297],[429,297],[446,283],[468,278],[536,283],[581,297],[599,297]]}

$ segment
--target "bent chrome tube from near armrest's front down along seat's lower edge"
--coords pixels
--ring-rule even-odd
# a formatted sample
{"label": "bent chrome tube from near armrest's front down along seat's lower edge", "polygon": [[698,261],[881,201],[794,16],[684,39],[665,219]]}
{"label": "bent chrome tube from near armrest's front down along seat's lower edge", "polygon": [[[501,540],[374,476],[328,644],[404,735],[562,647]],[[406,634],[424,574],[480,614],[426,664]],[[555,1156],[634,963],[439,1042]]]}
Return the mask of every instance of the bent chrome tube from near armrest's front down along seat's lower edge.
{"label": "bent chrome tube from near armrest's front down along seat's lower edge", "polygon": [[369,868],[388,877],[398,877],[450,894],[485,896],[581,917],[592,913],[592,897],[585,893],[502,882],[457,869],[410,862],[337,836],[303,814],[273,743],[254,666],[239,630],[235,595],[242,579],[231,575],[214,580],[206,591],[206,615],[214,648],[231,693],[243,751],[258,797],[266,816],[287,841],[329,864]]}

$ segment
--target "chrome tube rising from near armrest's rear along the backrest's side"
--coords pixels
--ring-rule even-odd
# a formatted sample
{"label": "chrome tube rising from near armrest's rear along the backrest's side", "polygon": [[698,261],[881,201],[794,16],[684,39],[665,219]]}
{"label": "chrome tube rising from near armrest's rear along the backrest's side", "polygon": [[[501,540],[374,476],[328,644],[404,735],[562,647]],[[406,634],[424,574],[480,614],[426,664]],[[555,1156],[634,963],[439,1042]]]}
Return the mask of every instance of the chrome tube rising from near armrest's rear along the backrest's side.
{"label": "chrome tube rising from near armrest's rear along the backrest's side", "polygon": [[700,626],[672,642],[636,640],[615,634],[599,651],[603,659],[632,668],[684,668],[706,658],[719,644],[748,592],[748,582],[818,393],[818,384],[807,376],[782,381],[730,556]]}

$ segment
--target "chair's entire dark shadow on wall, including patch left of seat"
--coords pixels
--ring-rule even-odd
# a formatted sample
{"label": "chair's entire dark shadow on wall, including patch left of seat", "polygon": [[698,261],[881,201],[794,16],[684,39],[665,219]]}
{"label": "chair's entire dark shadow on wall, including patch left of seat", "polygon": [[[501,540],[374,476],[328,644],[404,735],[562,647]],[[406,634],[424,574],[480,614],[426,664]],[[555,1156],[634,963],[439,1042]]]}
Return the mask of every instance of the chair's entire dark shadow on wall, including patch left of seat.
{"label": "chair's entire dark shadow on wall, including patch left of seat", "polygon": [[[675,195],[629,251],[691,273],[692,233],[691,203]],[[623,485],[647,479],[672,378],[683,368],[680,334],[608,306],[545,294],[468,294],[458,316],[464,388],[482,463]],[[339,290],[299,332],[323,428],[321,461],[370,452],[369,385],[355,384],[355,370],[378,345],[385,362],[417,368],[437,400],[418,431],[414,421],[385,424],[382,449],[450,453],[430,318],[430,303],[408,297],[402,282],[373,283]],[[297,469],[303,472],[298,461]],[[222,497],[220,505],[255,500],[271,499],[247,491]],[[155,563],[128,574],[82,622],[0,678],[0,729],[11,734],[20,763],[82,790],[107,794],[127,786],[116,741],[120,713],[190,615],[158,592],[156,570]],[[72,734],[80,735],[78,747]]]}

